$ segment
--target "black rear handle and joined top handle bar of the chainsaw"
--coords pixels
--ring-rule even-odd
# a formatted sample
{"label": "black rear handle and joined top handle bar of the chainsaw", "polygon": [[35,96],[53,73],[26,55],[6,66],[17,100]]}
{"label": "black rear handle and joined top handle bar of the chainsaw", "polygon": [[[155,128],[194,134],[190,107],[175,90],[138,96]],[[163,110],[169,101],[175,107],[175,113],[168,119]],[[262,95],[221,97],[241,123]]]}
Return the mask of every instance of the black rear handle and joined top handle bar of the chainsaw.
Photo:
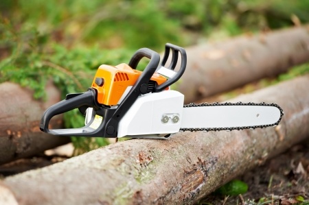
{"label": "black rear handle and joined top handle bar of the chainsaw", "polygon": [[[141,94],[147,93],[148,82],[152,75],[155,73],[159,62],[159,53],[152,51],[147,48],[139,49],[133,55],[130,60],[131,66],[135,67],[139,63],[141,58],[149,58],[150,62],[146,66],[145,70],[133,87],[130,89],[124,100],[117,106],[113,108],[110,106],[104,106],[98,104],[98,93],[94,88],[89,88],[89,91],[85,93],[69,94],[67,98],[58,102],[54,106],[48,108],[41,119],[40,129],[43,132],[49,134],[62,135],[62,136],[104,136],[104,137],[117,137],[117,129],[119,121],[122,119],[124,114],[130,109],[134,104],[137,97]],[[54,129],[49,130],[49,121],[57,114],[73,110],[75,108],[83,108],[87,106],[93,108],[92,119],[82,128],[72,128],[72,129]],[[84,109],[82,109],[84,110]],[[93,128],[91,124],[95,120],[95,115],[102,117],[102,122],[98,128]]]}

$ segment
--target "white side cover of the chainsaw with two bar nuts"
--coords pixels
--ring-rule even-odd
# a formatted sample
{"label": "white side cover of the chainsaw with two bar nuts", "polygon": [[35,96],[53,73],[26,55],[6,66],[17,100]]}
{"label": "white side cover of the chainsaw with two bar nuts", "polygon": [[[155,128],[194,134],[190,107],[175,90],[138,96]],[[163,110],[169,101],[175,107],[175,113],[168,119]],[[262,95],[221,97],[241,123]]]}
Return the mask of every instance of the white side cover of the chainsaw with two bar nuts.
{"label": "white side cover of the chainsaw with two bar nuts", "polygon": [[119,121],[117,137],[162,138],[179,132],[183,100],[183,94],[171,90],[141,95]]}

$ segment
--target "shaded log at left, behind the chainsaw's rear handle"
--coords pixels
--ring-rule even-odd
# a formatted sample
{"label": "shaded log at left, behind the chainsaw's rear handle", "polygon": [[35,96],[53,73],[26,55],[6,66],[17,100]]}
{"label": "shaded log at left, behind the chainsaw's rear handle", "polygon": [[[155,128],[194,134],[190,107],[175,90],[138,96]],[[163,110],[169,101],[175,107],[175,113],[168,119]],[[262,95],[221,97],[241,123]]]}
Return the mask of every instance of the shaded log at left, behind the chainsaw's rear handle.
{"label": "shaded log at left, behind the chainsaw's rear handle", "polygon": [[[69,142],[67,137],[52,137],[41,132],[39,125],[43,112],[60,101],[60,93],[52,84],[46,88],[47,101],[33,99],[33,92],[17,84],[0,84],[0,164],[32,156],[46,149]],[[62,126],[62,116],[50,123]]]}

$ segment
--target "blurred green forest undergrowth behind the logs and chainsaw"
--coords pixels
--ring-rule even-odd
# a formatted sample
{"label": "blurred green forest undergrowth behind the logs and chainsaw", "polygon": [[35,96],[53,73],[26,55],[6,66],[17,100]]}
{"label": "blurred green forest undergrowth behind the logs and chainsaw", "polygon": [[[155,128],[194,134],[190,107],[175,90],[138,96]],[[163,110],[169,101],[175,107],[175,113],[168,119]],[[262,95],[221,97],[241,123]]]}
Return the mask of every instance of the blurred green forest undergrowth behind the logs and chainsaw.
{"label": "blurred green forest undergrowth behind the logs and chainsaw", "polygon": [[[0,82],[32,88],[36,99],[45,99],[49,80],[62,98],[87,91],[100,64],[128,62],[141,47],[161,52],[165,43],[188,47],[309,21],[309,1],[282,0],[1,0],[0,11]],[[77,110],[65,114],[67,127],[83,123]],[[83,152],[106,144],[72,139]]]}

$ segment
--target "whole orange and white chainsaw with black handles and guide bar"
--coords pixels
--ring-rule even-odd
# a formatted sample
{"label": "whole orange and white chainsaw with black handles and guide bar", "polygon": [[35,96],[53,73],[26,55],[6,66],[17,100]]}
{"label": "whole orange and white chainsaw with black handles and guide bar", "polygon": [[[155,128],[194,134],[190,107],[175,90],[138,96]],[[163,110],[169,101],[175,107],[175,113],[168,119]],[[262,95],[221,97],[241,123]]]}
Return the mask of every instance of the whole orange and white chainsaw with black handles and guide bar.
{"label": "whole orange and white chainsaw with black handles and guide bar", "polygon": [[[138,71],[142,58],[149,62]],[[170,85],[183,75],[186,64],[185,49],[170,43],[161,62],[159,53],[142,48],[128,64],[102,64],[87,92],[68,94],[45,111],[40,129],[60,136],[168,138],[184,131],[253,130],[276,126],[282,119],[283,110],[274,103],[183,105],[184,95]],[[49,130],[52,117],[76,108],[85,116],[82,128]]]}

